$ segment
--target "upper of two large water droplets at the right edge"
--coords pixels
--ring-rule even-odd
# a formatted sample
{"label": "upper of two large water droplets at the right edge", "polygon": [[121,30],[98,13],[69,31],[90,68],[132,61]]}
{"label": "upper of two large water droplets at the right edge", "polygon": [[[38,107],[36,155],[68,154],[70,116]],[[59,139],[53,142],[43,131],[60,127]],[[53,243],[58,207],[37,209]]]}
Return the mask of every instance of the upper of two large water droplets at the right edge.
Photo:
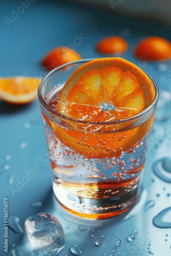
{"label": "upper of two large water droplets at the right edge", "polygon": [[163,181],[171,183],[171,160],[162,158],[153,165],[153,172]]}

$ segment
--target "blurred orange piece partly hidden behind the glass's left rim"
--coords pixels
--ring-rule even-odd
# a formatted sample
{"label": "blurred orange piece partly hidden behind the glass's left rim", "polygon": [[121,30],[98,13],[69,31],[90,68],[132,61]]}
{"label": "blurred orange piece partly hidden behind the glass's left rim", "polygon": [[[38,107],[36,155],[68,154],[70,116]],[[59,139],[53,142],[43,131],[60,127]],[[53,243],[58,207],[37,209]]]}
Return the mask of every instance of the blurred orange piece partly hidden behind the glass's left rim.
{"label": "blurred orange piece partly hidden behind the glass's left rim", "polygon": [[47,70],[52,70],[65,63],[81,59],[81,56],[69,47],[57,47],[49,52],[42,60],[42,66]]}

